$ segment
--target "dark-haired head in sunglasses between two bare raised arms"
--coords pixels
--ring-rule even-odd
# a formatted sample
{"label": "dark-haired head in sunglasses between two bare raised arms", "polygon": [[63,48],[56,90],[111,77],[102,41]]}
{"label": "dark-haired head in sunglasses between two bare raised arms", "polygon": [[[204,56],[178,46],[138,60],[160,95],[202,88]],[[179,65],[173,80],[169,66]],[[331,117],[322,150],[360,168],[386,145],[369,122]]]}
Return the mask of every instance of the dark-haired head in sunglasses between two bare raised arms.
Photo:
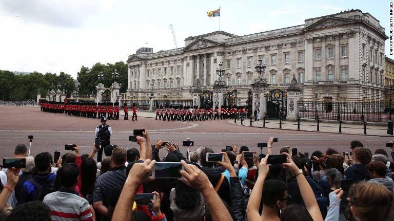
{"label": "dark-haired head in sunglasses between two bare raised arms", "polygon": [[280,180],[268,180],[264,183],[262,201],[264,207],[270,207],[279,211],[285,209],[288,194],[287,184]]}

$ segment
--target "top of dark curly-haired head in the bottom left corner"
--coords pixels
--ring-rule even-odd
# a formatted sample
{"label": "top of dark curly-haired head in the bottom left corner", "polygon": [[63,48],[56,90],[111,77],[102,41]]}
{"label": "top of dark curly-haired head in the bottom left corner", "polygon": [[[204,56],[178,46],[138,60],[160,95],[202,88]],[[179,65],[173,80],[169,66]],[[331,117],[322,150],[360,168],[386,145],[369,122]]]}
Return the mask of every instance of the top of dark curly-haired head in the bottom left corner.
{"label": "top of dark curly-haired head in the bottom left corner", "polygon": [[19,204],[12,209],[7,221],[50,221],[51,210],[41,201]]}

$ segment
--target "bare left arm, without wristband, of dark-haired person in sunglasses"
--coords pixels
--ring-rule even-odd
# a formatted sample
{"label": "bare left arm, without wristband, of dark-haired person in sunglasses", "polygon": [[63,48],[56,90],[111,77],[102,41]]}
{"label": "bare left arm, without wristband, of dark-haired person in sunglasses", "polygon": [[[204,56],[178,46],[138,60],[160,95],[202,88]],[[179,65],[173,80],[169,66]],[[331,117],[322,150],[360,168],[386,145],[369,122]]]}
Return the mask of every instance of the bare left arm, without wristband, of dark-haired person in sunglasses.
{"label": "bare left arm, without wristband, of dark-haired person in sunglasses", "polygon": [[250,221],[261,220],[259,207],[261,203],[261,195],[263,193],[264,181],[269,171],[267,165],[268,156],[269,154],[267,154],[267,156],[262,159],[259,164],[259,177],[254,184],[252,194],[249,198],[248,207],[246,208],[246,214],[248,216],[248,220]]}

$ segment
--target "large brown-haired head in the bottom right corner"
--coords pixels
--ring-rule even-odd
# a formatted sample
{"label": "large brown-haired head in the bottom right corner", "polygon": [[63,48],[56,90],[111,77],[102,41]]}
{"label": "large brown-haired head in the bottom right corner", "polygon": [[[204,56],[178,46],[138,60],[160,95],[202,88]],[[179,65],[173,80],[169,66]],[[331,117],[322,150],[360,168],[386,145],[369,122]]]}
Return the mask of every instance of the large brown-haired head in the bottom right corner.
{"label": "large brown-haired head in the bottom right corner", "polygon": [[389,220],[394,198],[383,185],[361,182],[349,190],[348,196],[350,211],[357,221]]}

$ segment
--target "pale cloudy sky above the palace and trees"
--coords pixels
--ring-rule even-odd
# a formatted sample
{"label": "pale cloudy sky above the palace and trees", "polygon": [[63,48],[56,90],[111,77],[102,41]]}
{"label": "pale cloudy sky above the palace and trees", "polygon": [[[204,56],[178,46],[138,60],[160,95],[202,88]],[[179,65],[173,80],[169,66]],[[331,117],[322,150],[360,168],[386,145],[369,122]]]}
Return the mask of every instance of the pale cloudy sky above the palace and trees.
{"label": "pale cloudy sky above the palace and trees", "polygon": [[[0,0],[0,70],[60,73],[76,79],[82,65],[126,62],[141,47],[153,52],[219,30],[246,35],[345,9],[369,12],[389,35],[389,1]],[[386,40],[388,55],[388,40]]]}

